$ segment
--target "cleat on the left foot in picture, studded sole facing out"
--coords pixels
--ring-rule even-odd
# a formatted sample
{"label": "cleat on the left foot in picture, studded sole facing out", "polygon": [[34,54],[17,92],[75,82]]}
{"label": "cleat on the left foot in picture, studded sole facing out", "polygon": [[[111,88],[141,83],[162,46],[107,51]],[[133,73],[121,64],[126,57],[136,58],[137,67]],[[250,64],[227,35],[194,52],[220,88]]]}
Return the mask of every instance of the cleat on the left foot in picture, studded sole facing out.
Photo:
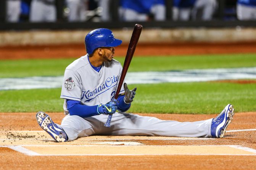
{"label": "cleat on the left foot in picture, studded sole facing out", "polygon": [[35,117],[39,126],[51,135],[55,141],[63,142],[68,140],[67,134],[52,121],[48,114],[39,111]]}

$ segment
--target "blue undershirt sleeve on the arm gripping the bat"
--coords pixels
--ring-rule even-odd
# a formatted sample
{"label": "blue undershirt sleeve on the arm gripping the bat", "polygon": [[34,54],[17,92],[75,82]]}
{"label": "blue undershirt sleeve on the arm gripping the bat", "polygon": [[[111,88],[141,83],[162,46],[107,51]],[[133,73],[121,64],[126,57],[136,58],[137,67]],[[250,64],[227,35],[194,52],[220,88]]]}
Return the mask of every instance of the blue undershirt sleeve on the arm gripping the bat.
{"label": "blue undershirt sleeve on the arm gripping the bat", "polygon": [[86,118],[86,117],[98,115],[98,111],[97,111],[98,105],[87,106],[87,105],[82,105],[79,101],[76,101],[76,100],[69,100],[69,99],[66,99],[66,100],[67,100],[67,109],[71,116],[77,115],[82,118]]}

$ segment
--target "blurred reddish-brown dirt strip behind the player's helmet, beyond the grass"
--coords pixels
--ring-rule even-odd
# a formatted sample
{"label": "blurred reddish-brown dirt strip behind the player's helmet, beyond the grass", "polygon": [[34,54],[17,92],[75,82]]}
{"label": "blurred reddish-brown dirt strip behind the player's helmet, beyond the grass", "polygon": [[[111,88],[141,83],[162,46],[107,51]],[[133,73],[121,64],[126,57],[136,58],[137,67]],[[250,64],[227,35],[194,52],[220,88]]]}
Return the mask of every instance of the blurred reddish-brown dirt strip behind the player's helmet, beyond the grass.
{"label": "blurred reddish-brown dirt strip behind the player's helmet, beyond the grass", "polygon": [[[193,54],[255,53],[256,42],[244,43],[139,43],[134,56],[164,56]],[[116,56],[126,56],[128,44],[116,47]],[[86,54],[84,44],[52,46],[5,46],[0,47],[0,59],[51,59],[80,57]]]}

